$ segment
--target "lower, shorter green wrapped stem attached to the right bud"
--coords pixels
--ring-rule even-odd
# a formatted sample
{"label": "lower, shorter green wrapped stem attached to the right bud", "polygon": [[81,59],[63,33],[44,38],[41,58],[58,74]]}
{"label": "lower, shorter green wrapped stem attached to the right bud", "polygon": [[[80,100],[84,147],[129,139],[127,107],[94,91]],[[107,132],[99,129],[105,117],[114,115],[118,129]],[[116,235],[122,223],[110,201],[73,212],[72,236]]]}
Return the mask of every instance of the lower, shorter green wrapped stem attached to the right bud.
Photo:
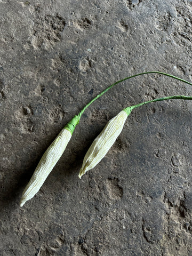
{"label": "lower, shorter green wrapped stem attached to the right bud", "polygon": [[139,103],[137,105],[124,108],[123,110],[127,113],[127,115],[129,115],[131,113],[131,110],[133,110],[134,108],[141,107],[141,106],[146,105],[151,102],[162,101],[162,100],[172,100],[172,99],[192,100],[192,97],[188,97],[188,96],[184,96],[184,95],[173,95],[173,96],[169,96],[169,97],[163,97],[163,98],[145,101],[145,102]]}

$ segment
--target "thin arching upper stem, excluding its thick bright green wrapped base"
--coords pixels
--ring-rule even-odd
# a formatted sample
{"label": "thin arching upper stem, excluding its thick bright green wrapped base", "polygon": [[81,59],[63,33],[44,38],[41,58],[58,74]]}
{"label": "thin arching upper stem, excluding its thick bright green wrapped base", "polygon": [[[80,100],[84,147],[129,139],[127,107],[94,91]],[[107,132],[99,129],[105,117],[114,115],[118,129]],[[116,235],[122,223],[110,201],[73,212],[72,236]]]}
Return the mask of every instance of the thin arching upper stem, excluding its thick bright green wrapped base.
{"label": "thin arching upper stem, excluding its thick bright green wrapped base", "polygon": [[121,79],[121,80],[115,82],[114,84],[111,84],[109,87],[107,87],[107,89],[105,89],[105,90],[102,91],[100,94],[98,94],[95,98],[93,98],[93,99],[79,112],[79,114],[78,114],[78,119],[81,118],[83,112],[85,111],[85,109],[86,109],[87,107],[89,107],[95,100],[97,100],[99,97],[101,97],[104,93],[106,93],[106,92],[107,92],[109,89],[111,89],[114,85],[119,84],[119,83],[121,83],[121,82],[123,82],[123,81],[125,81],[125,80],[127,80],[127,79],[130,79],[130,78],[133,78],[133,77],[136,77],[136,76],[140,76],[140,75],[145,75],[145,74],[161,74],[161,75],[164,75],[164,76],[169,76],[169,77],[171,77],[171,78],[177,79],[177,80],[179,80],[179,81],[181,81],[181,82],[183,82],[183,83],[192,85],[192,83],[190,83],[190,82],[188,82],[188,81],[186,81],[186,80],[184,80],[184,79],[181,79],[181,78],[179,78],[179,77],[177,77],[177,76],[173,76],[173,75],[166,74],[166,73],[159,72],[159,71],[148,71],[148,72],[143,72],[143,73],[140,73],[140,74],[137,74],[137,75],[129,76],[129,77],[123,78],[123,79]]}

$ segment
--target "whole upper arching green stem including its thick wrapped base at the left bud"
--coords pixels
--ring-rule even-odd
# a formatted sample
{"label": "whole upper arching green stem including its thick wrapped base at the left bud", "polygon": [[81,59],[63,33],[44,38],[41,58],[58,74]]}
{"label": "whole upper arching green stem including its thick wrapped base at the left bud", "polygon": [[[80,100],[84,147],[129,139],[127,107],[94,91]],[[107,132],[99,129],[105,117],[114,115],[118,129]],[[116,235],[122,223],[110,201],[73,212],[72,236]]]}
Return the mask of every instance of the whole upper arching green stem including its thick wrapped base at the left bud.
{"label": "whole upper arching green stem including its thick wrapped base at the left bud", "polygon": [[[67,129],[70,131],[71,134],[73,134],[74,130],[75,130],[75,126],[79,123],[79,120],[82,116],[82,114],[84,113],[85,109],[88,108],[95,100],[97,100],[99,97],[101,97],[104,93],[106,93],[109,89],[111,89],[114,85],[116,84],[119,84],[127,79],[130,79],[130,78],[133,78],[133,77],[136,77],[136,76],[140,76],[140,75],[146,75],[146,74],[160,74],[160,75],[164,75],[164,76],[169,76],[171,78],[174,78],[174,79],[177,79],[183,83],[186,83],[186,84],[190,84],[192,85],[192,83],[184,80],[184,79],[181,79],[177,76],[173,76],[173,75],[170,75],[170,74],[166,74],[166,73],[163,73],[163,72],[159,72],[159,71],[148,71],[148,72],[143,72],[143,73],[140,73],[140,74],[137,74],[137,75],[133,75],[133,76],[129,76],[129,77],[125,77],[117,82],[115,82],[114,84],[111,84],[109,87],[107,87],[104,91],[102,91],[101,93],[99,93],[95,98],[93,98],[80,112],[77,116],[74,116],[71,121],[63,128],[63,129]],[[149,102],[148,102],[149,103]],[[144,102],[142,103],[142,105],[144,104]],[[146,103],[147,104],[147,103]],[[136,105],[135,105],[136,106]],[[139,106],[138,106],[139,107]]]}

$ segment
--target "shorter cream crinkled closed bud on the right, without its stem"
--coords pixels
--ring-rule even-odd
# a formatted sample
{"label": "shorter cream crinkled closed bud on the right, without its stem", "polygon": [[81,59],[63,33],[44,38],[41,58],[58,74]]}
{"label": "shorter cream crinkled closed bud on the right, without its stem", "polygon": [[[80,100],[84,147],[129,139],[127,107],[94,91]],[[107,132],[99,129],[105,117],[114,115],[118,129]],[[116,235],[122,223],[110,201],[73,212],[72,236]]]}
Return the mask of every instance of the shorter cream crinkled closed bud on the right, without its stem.
{"label": "shorter cream crinkled closed bud on the right, without its stem", "polygon": [[124,109],[112,118],[104,127],[102,132],[93,141],[91,147],[87,151],[82,168],[78,177],[81,179],[85,172],[93,169],[103,157],[107,154],[111,146],[113,146],[118,135],[121,133],[127,116],[131,113],[130,109]]}

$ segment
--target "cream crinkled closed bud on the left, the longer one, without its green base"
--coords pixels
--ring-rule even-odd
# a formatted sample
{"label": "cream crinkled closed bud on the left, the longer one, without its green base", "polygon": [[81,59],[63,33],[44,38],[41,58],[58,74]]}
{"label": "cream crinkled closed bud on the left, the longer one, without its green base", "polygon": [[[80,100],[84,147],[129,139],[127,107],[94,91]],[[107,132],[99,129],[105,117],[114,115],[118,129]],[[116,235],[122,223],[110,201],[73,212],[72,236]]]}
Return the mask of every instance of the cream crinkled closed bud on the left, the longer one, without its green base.
{"label": "cream crinkled closed bud on the left, the longer one, without its green base", "polygon": [[38,190],[42,187],[47,176],[58,162],[59,158],[63,154],[63,151],[66,149],[70,138],[71,133],[68,130],[63,129],[49,148],[47,148],[40,162],[38,163],[33,176],[23,191],[20,206],[23,206],[26,201],[34,197]]}

